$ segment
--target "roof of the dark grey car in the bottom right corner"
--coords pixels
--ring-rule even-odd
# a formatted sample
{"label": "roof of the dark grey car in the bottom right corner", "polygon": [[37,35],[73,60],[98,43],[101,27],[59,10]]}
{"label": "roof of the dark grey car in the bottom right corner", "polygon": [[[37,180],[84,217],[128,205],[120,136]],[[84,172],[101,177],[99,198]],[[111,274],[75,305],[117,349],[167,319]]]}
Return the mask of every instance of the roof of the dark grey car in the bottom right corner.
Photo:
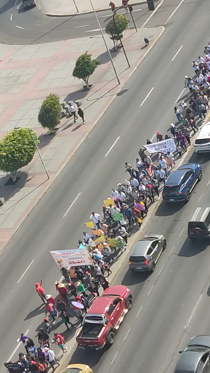
{"label": "roof of the dark grey car in the bottom right corner", "polygon": [[175,372],[194,372],[202,355],[203,352],[183,351],[176,364]]}

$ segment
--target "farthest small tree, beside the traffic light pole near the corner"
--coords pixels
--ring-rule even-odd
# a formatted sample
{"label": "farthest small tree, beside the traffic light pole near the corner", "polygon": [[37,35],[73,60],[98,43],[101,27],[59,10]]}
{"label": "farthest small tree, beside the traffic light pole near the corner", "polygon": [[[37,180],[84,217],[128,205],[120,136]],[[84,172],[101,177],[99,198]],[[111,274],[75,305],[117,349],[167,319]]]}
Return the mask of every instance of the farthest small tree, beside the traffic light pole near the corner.
{"label": "farthest small tree, beside the traffic light pole near the corner", "polygon": [[[114,20],[117,26],[117,29],[115,27],[113,19],[111,19],[105,28],[106,34],[111,35],[110,39],[114,43],[114,49],[117,51],[117,43],[120,40],[120,38],[123,38],[123,31],[127,29],[127,26],[129,25],[129,20],[124,14],[116,15],[114,16]],[[118,31],[118,32],[117,32]],[[120,35],[120,38],[118,36]]]}

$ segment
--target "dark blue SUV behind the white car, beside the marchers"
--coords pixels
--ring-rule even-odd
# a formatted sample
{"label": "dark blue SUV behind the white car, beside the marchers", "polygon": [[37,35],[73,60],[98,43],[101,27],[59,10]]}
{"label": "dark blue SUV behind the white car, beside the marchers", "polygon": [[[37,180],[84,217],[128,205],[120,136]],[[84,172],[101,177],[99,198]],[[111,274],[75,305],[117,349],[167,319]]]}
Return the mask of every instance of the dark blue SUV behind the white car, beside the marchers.
{"label": "dark blue SUV behind the white car, beside the marchers", "polygon": [[186,201],[195,184],[202,179],[202,169],[198,163],[187,163],[172,171],[163,188],[163,200],[166,202]]}

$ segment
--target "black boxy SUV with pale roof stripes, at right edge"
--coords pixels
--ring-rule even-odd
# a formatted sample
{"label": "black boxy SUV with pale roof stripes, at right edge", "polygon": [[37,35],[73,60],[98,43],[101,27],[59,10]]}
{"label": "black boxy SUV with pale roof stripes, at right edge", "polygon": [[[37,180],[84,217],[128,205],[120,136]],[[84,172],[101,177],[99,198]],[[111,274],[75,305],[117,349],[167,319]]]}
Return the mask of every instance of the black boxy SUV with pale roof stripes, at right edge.
{"label": "black boxy SUV with pale roof stripes, at right edge", "polygon": [[210,207],[197,207],[188,222],[188,237],[210,238]]}

